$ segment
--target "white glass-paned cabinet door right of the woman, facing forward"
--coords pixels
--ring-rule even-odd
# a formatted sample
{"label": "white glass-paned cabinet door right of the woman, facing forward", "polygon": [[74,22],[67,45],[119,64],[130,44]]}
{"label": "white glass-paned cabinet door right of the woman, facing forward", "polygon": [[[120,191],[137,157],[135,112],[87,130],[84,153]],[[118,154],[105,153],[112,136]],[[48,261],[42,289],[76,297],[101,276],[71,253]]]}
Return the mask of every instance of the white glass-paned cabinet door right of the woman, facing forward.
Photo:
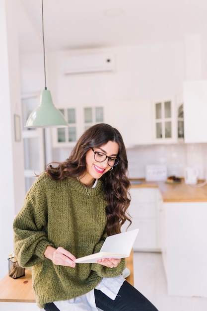
{"label": "white glass-paned cabinet door right of the woman, facing forward", "polygon": [[153,102],[153,143],[177,143],[177,114],[175,100]]}

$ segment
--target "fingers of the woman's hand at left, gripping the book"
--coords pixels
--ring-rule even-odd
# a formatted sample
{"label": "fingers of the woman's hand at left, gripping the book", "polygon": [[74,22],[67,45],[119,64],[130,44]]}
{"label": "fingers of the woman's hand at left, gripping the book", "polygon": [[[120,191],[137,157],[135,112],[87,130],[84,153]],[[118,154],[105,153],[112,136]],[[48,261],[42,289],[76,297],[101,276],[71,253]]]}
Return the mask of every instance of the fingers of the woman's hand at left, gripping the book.
{"label": "fingers of the woman's hand at left, gripping the book", "polygon": [[61,266],[75,267],[75,256],[63,247],[58,247],[53,253],[53,263]]}

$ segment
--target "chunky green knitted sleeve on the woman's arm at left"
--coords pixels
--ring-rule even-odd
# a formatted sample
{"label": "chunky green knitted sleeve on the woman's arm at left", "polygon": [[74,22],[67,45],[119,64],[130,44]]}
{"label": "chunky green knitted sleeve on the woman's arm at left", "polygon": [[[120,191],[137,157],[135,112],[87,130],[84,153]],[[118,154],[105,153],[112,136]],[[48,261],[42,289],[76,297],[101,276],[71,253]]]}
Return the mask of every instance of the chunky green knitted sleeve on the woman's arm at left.
{"label": "chunky green knitted sleeve on the woman's arm at left", "polygon": [[45,260],[44,251],[47,245],[52,245],[47,238],[47,199],[42,185],[37,185],[35,183],[27,193],[13,223],[14,254],[22,267]]}

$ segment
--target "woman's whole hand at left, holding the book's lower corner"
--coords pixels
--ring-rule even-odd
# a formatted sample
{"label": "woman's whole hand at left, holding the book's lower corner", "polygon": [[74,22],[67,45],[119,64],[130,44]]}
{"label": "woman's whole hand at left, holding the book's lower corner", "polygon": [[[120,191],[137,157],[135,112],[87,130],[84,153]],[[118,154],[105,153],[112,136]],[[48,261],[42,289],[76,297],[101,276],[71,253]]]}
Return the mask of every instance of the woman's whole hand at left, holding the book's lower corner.
{"label": "woman's whole hand at left, holding the book's lower corner", "polygon": [[75,267],[75,256],[63,247],[55,248],[48,245],[44,255],[46,258],[52,260],[55,265]]}

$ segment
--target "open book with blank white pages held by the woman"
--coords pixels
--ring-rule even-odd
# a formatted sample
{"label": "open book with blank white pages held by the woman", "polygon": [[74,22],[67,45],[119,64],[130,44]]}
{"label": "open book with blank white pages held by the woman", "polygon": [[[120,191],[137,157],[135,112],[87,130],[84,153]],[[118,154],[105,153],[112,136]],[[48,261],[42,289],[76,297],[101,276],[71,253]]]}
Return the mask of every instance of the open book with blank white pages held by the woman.
{"label": "open book with blank white pages held by the woman", "polygon": [[126,258],[130,256],[138,229],[107,236],[100,252],[77,258],[75,263],[93,263],[102,258]]}

